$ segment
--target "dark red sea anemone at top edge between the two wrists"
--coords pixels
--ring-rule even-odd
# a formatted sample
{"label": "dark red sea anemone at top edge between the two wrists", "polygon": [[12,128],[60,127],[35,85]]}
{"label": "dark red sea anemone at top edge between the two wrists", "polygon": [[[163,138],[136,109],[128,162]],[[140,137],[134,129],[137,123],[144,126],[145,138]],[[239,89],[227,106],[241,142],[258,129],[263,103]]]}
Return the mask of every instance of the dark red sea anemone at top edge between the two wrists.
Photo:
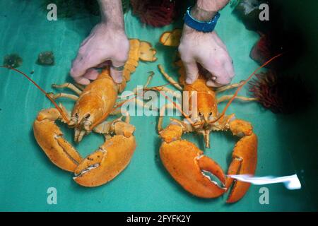
{"label": "dark red sea anemone at top edge between the two wrists", "polygon": [[153,27],[169,25],[177,16],[180,0],[131,0],[133,13],[142,23]]}

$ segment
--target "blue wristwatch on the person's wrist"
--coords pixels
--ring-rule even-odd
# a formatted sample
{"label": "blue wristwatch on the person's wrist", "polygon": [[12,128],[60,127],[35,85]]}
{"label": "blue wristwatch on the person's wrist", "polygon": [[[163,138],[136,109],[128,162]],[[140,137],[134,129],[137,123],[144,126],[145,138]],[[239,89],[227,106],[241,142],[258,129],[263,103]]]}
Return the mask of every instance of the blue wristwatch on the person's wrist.
{"label": "blue wristwatch on the person's wrist", "polygon": [[191,8],[192,7],[189,7],[187,9],[187,13],[184,16],[184,23],[186,25],[201,32],[212,32],[214,28],[216,28],[216,23],[218,22],[218,18],[220,18],[220,13],[216,13],[216,16],[214,16],[210,21],[203,22],[196,20],[191,16]]}

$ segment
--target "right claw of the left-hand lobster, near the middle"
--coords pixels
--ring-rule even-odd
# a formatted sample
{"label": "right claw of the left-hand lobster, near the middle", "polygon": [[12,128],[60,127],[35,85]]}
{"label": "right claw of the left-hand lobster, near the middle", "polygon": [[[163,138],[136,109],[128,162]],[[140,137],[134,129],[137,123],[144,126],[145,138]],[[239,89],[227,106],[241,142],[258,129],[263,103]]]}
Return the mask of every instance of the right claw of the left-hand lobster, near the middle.
{"label": "right claw of the left-hand lobster, near the middle", "polygon": [[73,179],[82,186],[100,186],[110,182],[126,168],[135,149],[134,136],[115,135],[78,165]]}

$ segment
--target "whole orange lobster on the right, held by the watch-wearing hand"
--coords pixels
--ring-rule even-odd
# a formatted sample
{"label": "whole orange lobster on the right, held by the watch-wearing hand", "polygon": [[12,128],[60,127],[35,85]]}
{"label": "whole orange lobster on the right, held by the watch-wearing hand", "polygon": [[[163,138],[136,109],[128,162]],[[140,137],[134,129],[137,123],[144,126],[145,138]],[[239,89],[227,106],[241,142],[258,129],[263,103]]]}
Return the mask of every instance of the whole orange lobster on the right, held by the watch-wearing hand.
{"label": "whole orange lobster on the right, held by the watch-wearing hand", "polygon": [[[165,32],[160,37],[160,42],[167,46],[177,46],[181,32],[174,30]],[[278,56],[276,56],[278,57]],[[275,59],[276,57],[273,57]],[[271,59],[270,61],[272,61]],[[267,63],[269,63],[268,61]],[[230,174],[250,174],[254,175],[257,167],[257,135],[248,121],[237,119],[235,114],[225,115],[225,111],[232,100],[253,101],[255,98],[237,96],[238,91],[247,81],[252,78],[254,73],[249,76],[247,81],[241,83],[225,85],[220,88],[210,88],[206,85],[206,78],[199,72],[199,78],[191,85],[185,83],[185,70],[181,61],[177,61],[179,66],[179,83],[174,81],[163,66],[159,65],[160,72],[167,81],[182,92],[189,92],[187,104],[191,109],[190,114],[182,114],[185,119],[170,119],[170,124],[163,129],[163,115],[165,110],[170,107],[176,107],[176,103],[170,103],[160,109],[158,121],[158,133],[163,143],[160,146],[160,158],[163,165],[170,175],[189,193],[201,198],[216,198],[226,191],[230,190],[228,203],[239,201],[245,196],[250,184],[246,182],[237,182],[230,177],[226,177],[223,169],[210,157],[204,155],[203,151],[189,141],[182,139],[183,133],[196,132],[204,137],[206,147],[210,146],[209,135],[211,131],[230,131],[234,136],[240,137],[232,152],[232,162],[228,168]],[[225,90],[237,88],[235,95],[223,95],[217,97],[217,94]],[[196,106],[192,106],[192,98],[196,95]],[[218,104],[228,101],[228,105],[223,112],[218,112]],[[185,103],[183,102],[183,105]],[[195,108],[195,109],[194,109]],[[184,109],[177,107],[177,109]],[[206,172],[216,176],[220,184],[213,181]]]}

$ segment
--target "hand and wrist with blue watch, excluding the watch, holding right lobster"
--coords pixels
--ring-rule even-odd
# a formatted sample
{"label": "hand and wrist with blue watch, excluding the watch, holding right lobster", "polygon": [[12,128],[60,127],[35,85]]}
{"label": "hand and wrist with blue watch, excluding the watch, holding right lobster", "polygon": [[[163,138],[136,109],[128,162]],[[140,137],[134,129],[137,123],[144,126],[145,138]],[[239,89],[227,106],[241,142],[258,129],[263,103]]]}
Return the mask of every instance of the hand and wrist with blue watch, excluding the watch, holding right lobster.
{"label": "hand and wrist with blue watch, excluding the watch, holding right lobster", "polygon": [[[208,21],[226,4],[228,0],[198,0],[191,13],[197,20]],[[228,84],[234,77],[232,59],[216,32],[199,32],[184,24],[179,53],[186,69],[188,84],[194,83],[199,76],[197,63],[209,72],[209,86]]]}

